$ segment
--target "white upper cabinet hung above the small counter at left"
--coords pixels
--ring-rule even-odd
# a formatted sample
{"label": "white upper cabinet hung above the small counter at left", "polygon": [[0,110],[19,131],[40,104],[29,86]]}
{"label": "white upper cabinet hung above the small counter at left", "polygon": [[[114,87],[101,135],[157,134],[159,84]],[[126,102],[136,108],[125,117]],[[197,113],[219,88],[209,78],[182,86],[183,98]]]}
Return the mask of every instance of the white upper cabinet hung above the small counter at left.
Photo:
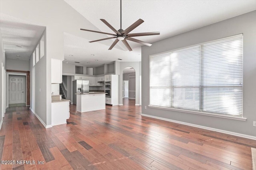
{"label": "white upper cabinet hung above the small counter at left", "polygon": [[62,83],[62,61],[58,59],[51,60],[52,83]]}

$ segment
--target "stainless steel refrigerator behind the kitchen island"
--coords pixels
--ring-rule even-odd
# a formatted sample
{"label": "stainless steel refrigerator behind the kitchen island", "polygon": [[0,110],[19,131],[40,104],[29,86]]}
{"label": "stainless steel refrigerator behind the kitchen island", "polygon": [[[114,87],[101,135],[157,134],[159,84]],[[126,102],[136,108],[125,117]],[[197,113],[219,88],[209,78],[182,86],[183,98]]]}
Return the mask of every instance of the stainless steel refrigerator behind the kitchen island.
{"label": "stainless steel refrigerator behind the kitchen island", "polygon": [[74,80],[73,81],[73,104],[76,104],[76,94],[89,93],[88,80]]}

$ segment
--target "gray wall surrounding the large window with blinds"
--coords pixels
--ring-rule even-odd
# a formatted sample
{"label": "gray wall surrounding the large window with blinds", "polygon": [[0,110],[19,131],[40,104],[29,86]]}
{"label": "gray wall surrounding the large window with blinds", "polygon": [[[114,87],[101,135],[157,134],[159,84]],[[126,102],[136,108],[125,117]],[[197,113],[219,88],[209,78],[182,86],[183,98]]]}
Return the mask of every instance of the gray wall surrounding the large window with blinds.
{"label": "gray wall surrounding the large window with blinds", "polygon": [[[224,20],[142,47],[142,114],[256,136],[256,11]],[[149,108],[149,55],[243,33],[243,117],[246,121]]]}

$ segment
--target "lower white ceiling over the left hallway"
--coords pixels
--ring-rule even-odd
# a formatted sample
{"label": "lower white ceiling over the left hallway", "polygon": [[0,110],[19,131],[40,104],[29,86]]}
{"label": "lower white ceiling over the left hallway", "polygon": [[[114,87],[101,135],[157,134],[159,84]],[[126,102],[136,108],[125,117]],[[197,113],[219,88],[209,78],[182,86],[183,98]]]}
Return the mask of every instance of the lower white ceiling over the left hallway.
{"label": "lower white ceiling over the left hallway", "polygon": [[6,58],[29,60],[44,29],[1,13],[0,30]]}

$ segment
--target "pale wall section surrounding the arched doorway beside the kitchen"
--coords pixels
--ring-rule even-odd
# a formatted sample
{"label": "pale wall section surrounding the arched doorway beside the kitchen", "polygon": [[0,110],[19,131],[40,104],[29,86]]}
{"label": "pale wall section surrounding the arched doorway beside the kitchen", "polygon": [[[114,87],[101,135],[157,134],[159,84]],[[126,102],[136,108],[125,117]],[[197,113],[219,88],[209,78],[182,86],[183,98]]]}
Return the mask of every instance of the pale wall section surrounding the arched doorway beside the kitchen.
{"label": "pale wall section surrounding the arched doorway beside the kitchen", "polygon": [[[140,92],[139,92],[139,70],[140,70],[140,62],[120,62],[120,72],[123,72],[124,68],[126,67],[132,67],[135,70],[135,104],[139,105],[139,97],[140,97]],[[123,104],[123,74],[119,75],[119,104]]]}

